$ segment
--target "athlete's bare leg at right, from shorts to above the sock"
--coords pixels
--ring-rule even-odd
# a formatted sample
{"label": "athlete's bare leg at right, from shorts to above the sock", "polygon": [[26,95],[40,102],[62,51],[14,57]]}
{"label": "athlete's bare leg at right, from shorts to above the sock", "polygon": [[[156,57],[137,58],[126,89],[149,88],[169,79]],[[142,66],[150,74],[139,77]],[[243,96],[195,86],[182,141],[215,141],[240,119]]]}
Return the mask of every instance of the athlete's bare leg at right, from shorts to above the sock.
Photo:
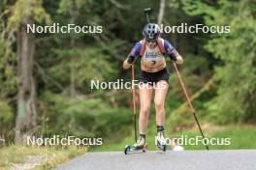
{"label": "athlete's bare leg at right, from shorts to above the sock", "polygon": [[168,82],[166,80],[160,80],[155,86],[155,111],[156,111],[156,125],[165,125],[165,99],[168,92]]}

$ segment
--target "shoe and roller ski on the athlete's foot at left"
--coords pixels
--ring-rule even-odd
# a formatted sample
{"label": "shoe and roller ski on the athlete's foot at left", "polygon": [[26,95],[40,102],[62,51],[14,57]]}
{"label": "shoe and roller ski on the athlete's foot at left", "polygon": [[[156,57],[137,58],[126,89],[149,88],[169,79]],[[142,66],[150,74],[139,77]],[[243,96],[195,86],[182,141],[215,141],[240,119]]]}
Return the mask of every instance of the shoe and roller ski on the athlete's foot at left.
{"label": "shoe and roller ski on the athlete's foot at left", "polygon": [[143,137],[140,137],[132,148],[129,144],[125,146],[124,154],[145,153],[146,150],[147,143],[145,143],[145,139]]}

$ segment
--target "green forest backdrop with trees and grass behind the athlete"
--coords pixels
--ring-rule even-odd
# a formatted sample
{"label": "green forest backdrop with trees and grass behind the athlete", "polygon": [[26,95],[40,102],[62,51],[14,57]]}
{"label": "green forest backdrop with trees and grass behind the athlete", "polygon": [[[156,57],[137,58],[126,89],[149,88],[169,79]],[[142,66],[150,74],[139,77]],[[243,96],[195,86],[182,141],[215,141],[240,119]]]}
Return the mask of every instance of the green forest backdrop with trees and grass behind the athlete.
{"label": "green forest backdrop with trees and grass behind the athlete", "polygon": [[[131,71],[123,71],[122,62],[142,39],[147,7],[154,10],[151,20],[164,25],[231,27],[228,34],[162,37],[184,58],[179,71],[206,135],[231,138],[231,146],[213,148],[256,148],[253,0],[0,0],[1,146],[20,144],[26,136],[54,134],[103,137],[104,145],[95,148],[100,151],[120,150],[125,142],[132,142],[132,91],[91,90],[90,81],[131,80]],[[103,33],[27,34],[28,23],[102,25]],[[171,72],[165,105],[167,135],[195,136],[198,129],[167,61]],[[140,62],[135,68],[138,78]],[[155,133],[153,115],[152,106],[149,141]]]}

